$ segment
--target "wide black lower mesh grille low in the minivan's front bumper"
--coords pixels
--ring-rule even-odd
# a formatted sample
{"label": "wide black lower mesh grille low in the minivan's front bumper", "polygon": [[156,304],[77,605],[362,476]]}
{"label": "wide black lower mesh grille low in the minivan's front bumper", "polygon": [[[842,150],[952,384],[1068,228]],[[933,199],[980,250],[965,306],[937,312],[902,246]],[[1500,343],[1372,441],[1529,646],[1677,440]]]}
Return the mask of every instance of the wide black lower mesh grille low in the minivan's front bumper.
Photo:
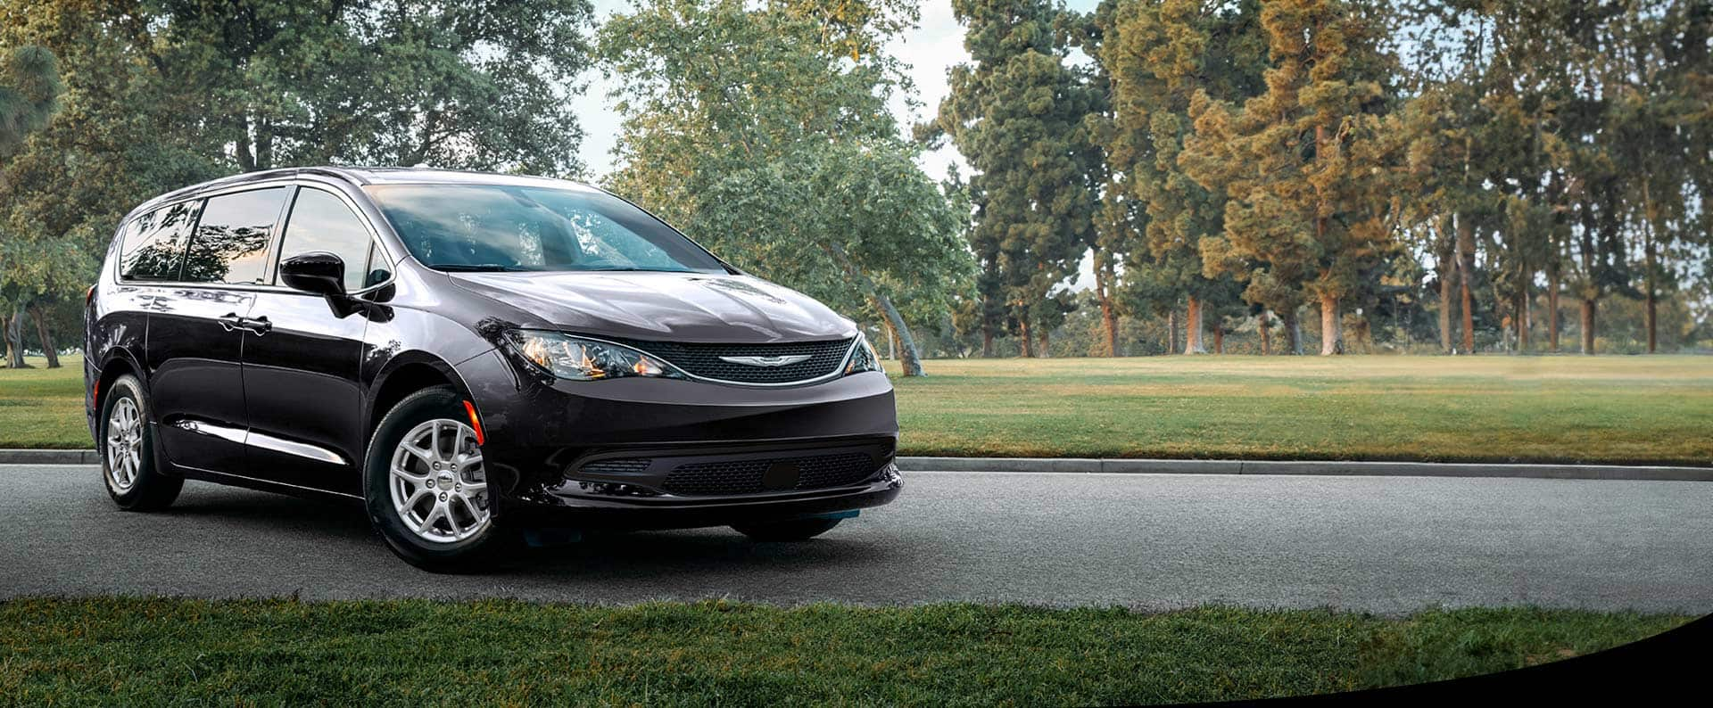
{"label": "wide black lower mesh grille low in the minivan's front bumper", "polygon": [[[779,465],[795,467],[795,479]],[[661,489],[683,496],[827,489],[862,482],[875,469],[877,465],[868,453],[697,462],[671,470],[661,482]],[[769,479],[769,472],[773,479]]]}

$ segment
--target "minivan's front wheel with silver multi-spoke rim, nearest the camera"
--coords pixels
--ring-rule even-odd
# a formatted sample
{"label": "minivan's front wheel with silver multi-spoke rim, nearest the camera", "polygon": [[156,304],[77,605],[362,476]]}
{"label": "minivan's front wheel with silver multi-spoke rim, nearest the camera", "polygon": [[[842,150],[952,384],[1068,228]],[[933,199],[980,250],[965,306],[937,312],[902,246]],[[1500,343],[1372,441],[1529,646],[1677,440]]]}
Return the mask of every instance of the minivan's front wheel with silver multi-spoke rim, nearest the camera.
{"label": "minivan's front wheel with silver multi-spoke rim, nearest the camera", "polygon": [[[363,460],[363,503],[404,563],[469,573],[492,568],[516,546],[514,534],[493,523],[480,453],[452,386],[411,393],[380,419]],[[396,462],[403,474],[394,474]]]}

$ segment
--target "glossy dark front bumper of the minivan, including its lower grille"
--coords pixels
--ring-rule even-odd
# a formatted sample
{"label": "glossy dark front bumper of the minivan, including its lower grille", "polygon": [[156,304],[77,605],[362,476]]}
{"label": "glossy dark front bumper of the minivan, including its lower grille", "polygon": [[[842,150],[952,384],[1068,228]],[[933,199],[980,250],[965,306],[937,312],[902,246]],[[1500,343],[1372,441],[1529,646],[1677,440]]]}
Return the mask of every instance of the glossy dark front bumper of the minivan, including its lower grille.
{"label": "glossy dark front bumper of the minivan, including its lower grille", "polygon": [[882,373],[767,388],[564,381],[504,351],[457,373],[481,419],[500,523],[754,523],[879,506],[903,487]]}

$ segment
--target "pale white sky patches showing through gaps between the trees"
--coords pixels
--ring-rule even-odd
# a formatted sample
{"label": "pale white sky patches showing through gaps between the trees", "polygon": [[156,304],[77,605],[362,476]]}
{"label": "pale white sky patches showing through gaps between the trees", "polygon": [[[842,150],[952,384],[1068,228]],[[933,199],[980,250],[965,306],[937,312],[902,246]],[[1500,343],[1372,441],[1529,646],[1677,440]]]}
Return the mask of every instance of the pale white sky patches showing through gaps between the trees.
{"label": "pale white sky patches showing through gaps between the trees", "polygon": [[[598,21],[605,22],[606,15],[613,12],[625,12],[630,9],[630,0],[593,0],[594,15]],[[1079,12],[1089,12],[1095,9],[1098,0],[1069,0],[1067,5]],[[970,53],[963,48],[963,26],[952,19],[951,0],[923,0],[922,2],[922,24],[887,43],[887,51],[910,65],[910,77],[916,84],[916,97],[922,101],[923,115],[910,115],[903,101],[896,101],[892,106],[894,116],[899,125],[911,125],[925,115],[932,115],[939,109],[940,99],[946,97],[946,72],[970,58]],[[618,115],[613,113],[612,103],[606,99],[606,91],[610,84],[601,77],[600,72],[589,72],[589,91],[582,96],[588,106],[579,113],[582,120],[582,164],[588,166],[589,176],[600,181],[606,173],[613,169],[613,144],[618,140]],[[963,161],[958,157],[958,150],[944,147],[937,152],[922,156],[922,168],[934,180],[946,176],[946,166]]]}

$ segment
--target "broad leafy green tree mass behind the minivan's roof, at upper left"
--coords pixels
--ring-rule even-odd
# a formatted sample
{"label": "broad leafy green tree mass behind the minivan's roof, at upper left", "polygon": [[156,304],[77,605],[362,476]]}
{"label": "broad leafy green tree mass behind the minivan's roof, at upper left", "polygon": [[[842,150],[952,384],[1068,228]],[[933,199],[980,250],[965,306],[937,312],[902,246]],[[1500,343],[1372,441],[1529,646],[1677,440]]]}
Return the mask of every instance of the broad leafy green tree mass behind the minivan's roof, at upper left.
{"label": "broad leafy green tree mass behind the minivan's roof, at upper left", "polygon": [[586,0],[15,0],[0,44],[46,46],[67,86],[0,164],[0,289],[81,296],[122,214],[233,171],[576,173],[589,19]]}

